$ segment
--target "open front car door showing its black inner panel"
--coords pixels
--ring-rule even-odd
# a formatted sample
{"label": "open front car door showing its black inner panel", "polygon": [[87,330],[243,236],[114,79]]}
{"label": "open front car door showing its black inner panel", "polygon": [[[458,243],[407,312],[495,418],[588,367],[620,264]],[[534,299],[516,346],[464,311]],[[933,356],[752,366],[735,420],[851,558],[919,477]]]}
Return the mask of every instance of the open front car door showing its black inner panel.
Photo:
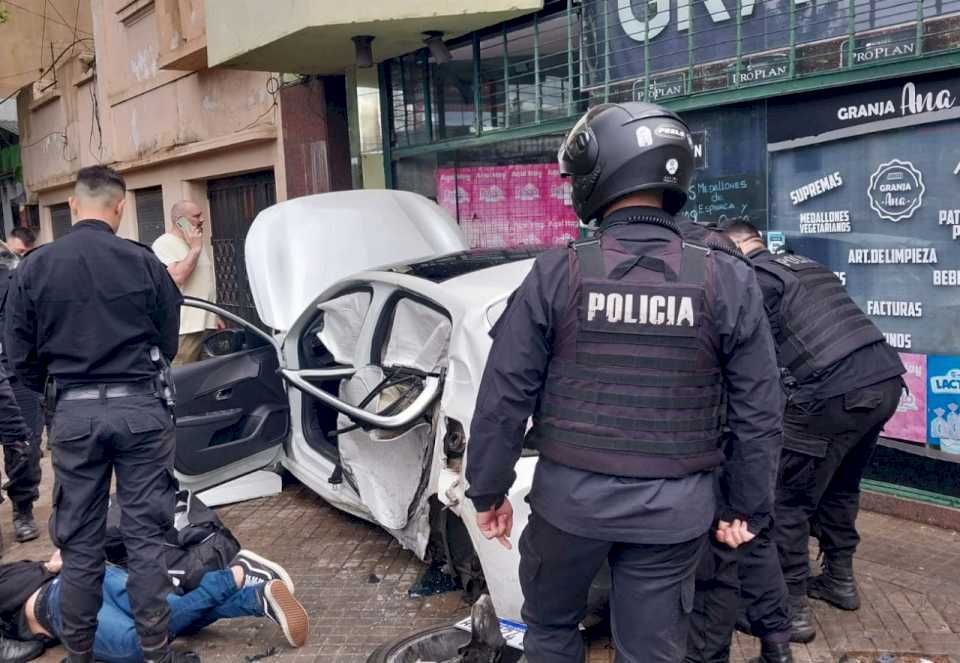
{"label": "open front car door showing its black inner panel", "polygon": [[204,359],[172,371],[175,469],[181,485],[198,492],[276,464],[290,435],[290,404],[269,334],[209,302],[184,305],[235,327],[207,340]]}

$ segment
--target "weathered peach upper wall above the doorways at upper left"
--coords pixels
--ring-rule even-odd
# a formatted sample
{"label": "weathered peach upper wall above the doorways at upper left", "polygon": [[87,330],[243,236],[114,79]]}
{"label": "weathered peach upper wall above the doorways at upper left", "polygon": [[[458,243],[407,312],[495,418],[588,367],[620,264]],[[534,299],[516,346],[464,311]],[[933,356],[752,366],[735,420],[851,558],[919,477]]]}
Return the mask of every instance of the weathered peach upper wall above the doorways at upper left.
{"label": "weathered peach upper wall above the doorways at upper left", "polygon": [[[199,2],[199,0],[196,0]],[[105,163],[133,189],[162,186],[164,207],[193,198],[206,207],[206,183],[263,169],[283,171],[277,79],[262,72],[160,68],[172,52],[171,6],[195,22],[188,0],[92,0],[96,69],[64,58],[57,85],[18,99],[24,183],[38,196],[41,237],[50,239],[50,205],[66,201],[77,171]],[[199,14],[202,18],[202,13]],[[194,40],[202,30],[194,28]],[[285,186],[277,182],[283,199]],[[120,233],[137,237],[133,194]],[[169,219],[168,219],[169,222]]]}

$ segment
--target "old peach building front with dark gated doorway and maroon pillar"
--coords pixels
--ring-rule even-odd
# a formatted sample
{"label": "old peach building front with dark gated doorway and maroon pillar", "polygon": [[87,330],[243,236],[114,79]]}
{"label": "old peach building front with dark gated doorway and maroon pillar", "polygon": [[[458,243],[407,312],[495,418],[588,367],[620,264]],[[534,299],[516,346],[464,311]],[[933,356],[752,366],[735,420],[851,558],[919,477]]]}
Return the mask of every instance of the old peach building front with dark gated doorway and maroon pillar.
{"label": "old peach building front with dark gated doorway and maroon pillar", "polygon": [[108,164],[129,188],[120,234],[150,244],[171,206],[193,200],[208,219],[219,301],[255,316],[243,261],[253,218],[351,185],[345,78],[210,69],[203,0],[92,0],[90,10],[92,38],[18,96],[41,241],[76,221],[77,171]]}

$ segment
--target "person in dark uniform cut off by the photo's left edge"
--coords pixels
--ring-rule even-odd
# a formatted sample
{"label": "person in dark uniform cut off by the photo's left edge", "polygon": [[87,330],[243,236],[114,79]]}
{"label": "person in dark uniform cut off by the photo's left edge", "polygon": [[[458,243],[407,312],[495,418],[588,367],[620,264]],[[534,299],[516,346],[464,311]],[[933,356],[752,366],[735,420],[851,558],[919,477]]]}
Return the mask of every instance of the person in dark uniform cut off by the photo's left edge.
{"label": "person in dark uniform cut off by the photo's left edge", "polygon": [[[7,289],[13,269],[20,262],[12,250],[0,242],[0,333],[3,330]],[[6,437],[3,464],[7,474],[4,488],[13,503],[13,532],[17,541],[24,543],[40,536],[33,518],[33,503],[40,497],[40,441],[43,431],[43,415],[40,411],[40,394],[30,391],[10,371],[6,354],[0,344],[0,373],[9,380],[9,385],[0,387],[0,410],[8,430],[13,427],[14,437]],[[6,392],[10,392],[9,397]],[[25,422],[26,430],[21,428]],[[0,543],[0,548],[2,548]]]}

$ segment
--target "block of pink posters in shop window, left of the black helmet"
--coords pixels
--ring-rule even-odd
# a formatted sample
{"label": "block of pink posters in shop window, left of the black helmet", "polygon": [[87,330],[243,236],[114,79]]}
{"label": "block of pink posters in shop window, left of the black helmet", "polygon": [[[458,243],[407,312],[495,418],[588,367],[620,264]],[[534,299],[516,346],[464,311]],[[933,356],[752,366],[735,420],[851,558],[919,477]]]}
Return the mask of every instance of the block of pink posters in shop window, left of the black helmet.
{"label": "block of pink posters in shop window, left of the black helmet", "polygon": [[437,196],[475,248],[556,246],[579,233],[570,185],[556,165],[440,168]]}

